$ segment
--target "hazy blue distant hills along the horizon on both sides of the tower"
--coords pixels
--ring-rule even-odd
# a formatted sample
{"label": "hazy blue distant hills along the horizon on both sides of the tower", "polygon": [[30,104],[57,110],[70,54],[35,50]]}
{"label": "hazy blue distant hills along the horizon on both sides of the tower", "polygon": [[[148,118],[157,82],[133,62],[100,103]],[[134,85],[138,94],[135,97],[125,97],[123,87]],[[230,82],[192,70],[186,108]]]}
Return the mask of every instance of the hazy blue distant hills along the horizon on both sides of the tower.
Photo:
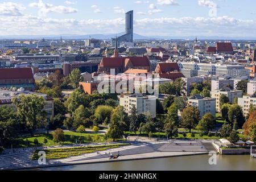
{"label": "hazy blue distant hills along the horizon on both sides of the tower", "polygon": [[[61,34],[61,35],[0,35],[0,39],[111,39],[115,36],[121,36],[125,33],[119,34],[88,34],[88,35],[74,35],[74,34]],[[167,40],[195,40],[196,36],[143,36],[134,34],[135,40],[142,39],[167,39]],[[198,40],[256,40],[253,37],[224,37],[224,36],[197,36]]]}

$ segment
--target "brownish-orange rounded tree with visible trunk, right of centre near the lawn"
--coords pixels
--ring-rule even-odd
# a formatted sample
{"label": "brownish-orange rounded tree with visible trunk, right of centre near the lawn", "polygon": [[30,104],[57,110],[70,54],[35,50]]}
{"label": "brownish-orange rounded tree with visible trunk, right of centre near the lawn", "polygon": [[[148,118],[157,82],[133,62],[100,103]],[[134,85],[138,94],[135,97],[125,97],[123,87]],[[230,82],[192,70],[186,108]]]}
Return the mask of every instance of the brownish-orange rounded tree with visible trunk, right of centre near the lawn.
{"label": "brownish-orange rounded tree with visible trunk, right of centre near the lawn", "polygon": [[181,125],[189,129],[195,129],[200,120],[200,112],[196,107],[187,107],[181,113]]}

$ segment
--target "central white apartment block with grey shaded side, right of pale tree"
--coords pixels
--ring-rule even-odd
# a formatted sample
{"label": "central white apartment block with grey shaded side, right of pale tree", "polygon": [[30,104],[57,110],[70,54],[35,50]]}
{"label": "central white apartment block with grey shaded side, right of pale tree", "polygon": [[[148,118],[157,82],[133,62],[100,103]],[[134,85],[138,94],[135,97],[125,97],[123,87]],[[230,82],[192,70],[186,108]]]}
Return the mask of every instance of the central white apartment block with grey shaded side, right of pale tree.
{"label": "central white apartment block with grey shaded side, right of pale tree", "polygon": [[156,117],[156,97],[144,96],[143,94],[133,94],[120,97],[120,104],[130,114],[133,106],[137,109],[137,114],[150,113],[152,118]]}

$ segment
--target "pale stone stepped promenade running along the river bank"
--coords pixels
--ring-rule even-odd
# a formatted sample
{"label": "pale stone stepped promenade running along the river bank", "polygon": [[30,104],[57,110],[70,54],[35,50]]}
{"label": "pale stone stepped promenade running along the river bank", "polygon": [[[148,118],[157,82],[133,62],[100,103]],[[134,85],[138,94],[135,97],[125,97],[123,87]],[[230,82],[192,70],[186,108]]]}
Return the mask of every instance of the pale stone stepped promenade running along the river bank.
{"label": "pale stone stepped promenade running along the river bank", "polygon": [[[172,140],[172,142],[139,142],[131,144],[130,146],[74,156],[67,159],[47,160],[46,166],[51,167],[177,155],[208,154],[210,151],[217,151],[211,142],[188,142],[176,140]],[[119,155],[119,158],[117,160],[111,160],[110,155]],[[43,167],[38,164],[37,160],[31,160],[31,156],[32,151],[27,151],[22,154],[2,155],[0,156],[0,169]]]}

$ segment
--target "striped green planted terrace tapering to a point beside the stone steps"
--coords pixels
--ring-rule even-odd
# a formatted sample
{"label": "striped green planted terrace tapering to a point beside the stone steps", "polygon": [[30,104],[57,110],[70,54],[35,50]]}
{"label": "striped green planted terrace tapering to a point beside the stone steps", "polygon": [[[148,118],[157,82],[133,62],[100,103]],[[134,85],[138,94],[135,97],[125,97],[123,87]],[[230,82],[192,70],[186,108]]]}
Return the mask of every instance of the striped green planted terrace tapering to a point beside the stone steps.
{"label": "striped green planted terrace tapering to a point beside the stone steps", "polygon": [[[82,154],[90,154],[97,151],[104,151],[110,148],[118,148],[127,146],[129,144],[109,144],[102,146],[86,146],[86,147],[72,147],[72,148],[56,148],[43,150],[46,152],[46,159],[65,159],[71,156],[79,156]],[[38,152],[42,150],[36,150],[32,155],[32,160],[38,160]]]}

